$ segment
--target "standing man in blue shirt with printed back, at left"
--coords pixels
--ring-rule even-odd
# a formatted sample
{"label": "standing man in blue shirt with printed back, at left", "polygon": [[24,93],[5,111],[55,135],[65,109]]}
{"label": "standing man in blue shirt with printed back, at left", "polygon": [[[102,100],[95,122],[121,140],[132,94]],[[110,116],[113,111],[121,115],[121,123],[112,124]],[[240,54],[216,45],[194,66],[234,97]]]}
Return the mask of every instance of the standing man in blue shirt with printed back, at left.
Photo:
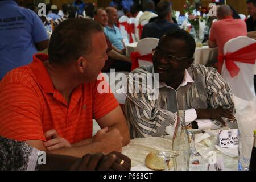
{"label": "standing man in blue shirt with printed back, at left", "polygon": [[32,10],[15,1],[0,1],[0,80],[16,67],[31,63],[32,56],[48,47],[43,22]]}

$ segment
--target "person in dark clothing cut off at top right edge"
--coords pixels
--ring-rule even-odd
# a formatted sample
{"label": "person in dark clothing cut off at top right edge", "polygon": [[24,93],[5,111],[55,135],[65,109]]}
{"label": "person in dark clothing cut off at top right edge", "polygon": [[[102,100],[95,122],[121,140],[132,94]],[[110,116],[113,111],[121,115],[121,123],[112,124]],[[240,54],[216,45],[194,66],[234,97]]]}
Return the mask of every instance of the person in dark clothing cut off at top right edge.
{"label": "person in dark clothing cut off at top right edge", "polygon": [[250,38],[256,38],[256,0],[247,0],[247,11],[250,17],[246,20],[247,32]]}

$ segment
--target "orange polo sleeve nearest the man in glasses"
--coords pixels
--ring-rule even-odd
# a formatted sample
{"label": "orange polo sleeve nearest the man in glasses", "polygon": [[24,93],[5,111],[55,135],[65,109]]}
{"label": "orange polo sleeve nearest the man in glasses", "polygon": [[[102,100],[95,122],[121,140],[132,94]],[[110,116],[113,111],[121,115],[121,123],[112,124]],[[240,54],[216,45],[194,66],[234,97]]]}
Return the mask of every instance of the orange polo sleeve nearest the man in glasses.
{"label": "orange polo sleeve nearest the man in glasses", "polygon": [[100,119],[119,106],[102,73],[100,78],[94,88],[93,119]]}

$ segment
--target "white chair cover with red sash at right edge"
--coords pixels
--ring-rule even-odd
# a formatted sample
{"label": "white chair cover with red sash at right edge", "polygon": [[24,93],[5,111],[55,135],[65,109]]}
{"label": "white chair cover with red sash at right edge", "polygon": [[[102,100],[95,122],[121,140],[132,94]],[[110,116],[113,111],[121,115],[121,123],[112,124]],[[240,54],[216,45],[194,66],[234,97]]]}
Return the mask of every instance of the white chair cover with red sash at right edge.
{"label": "white chair cover with red sash at right edge", "polygon": [[[238,38],[234,38],[229,40],[224,45],[224,55],[227,53],[233,53],[241,48],[245,48],[251,44],[256,43],[256,40],[247,38],[246,36],[239,36]],[[253,50],[255,51],[255,50]],[[251,51],[250,51],[251,52]],[[256,55],[256,54],[255,54]],[[256,56],[255,56],[256,60]],[[226,67],[226,60],[224,60],[224,64],[222,66],[221,76],[228,82],[232,89],[232,93],[242,98],[243,100],[252,100],[255,97],[254,90],[254,64],[242,63],[234,60],[234,63],[240,69],[238,75],[232,77],[230,72]]]}

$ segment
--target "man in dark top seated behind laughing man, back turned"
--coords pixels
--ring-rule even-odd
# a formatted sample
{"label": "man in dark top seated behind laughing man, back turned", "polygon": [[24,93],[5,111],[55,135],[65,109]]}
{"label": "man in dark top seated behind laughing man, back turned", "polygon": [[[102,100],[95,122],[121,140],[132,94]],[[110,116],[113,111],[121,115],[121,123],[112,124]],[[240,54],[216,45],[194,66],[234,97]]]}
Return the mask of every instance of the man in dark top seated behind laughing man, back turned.
{"label": "man in dark top seated behind laughing man, back turned", "polygon": [[179,26],[172,21],[170,2],[159,2],[156,6],[156,13],[158,14],[158,17],[155,22],[148,23],[144,26],[141,39],[160,39],[166,32],[179,29]]}

